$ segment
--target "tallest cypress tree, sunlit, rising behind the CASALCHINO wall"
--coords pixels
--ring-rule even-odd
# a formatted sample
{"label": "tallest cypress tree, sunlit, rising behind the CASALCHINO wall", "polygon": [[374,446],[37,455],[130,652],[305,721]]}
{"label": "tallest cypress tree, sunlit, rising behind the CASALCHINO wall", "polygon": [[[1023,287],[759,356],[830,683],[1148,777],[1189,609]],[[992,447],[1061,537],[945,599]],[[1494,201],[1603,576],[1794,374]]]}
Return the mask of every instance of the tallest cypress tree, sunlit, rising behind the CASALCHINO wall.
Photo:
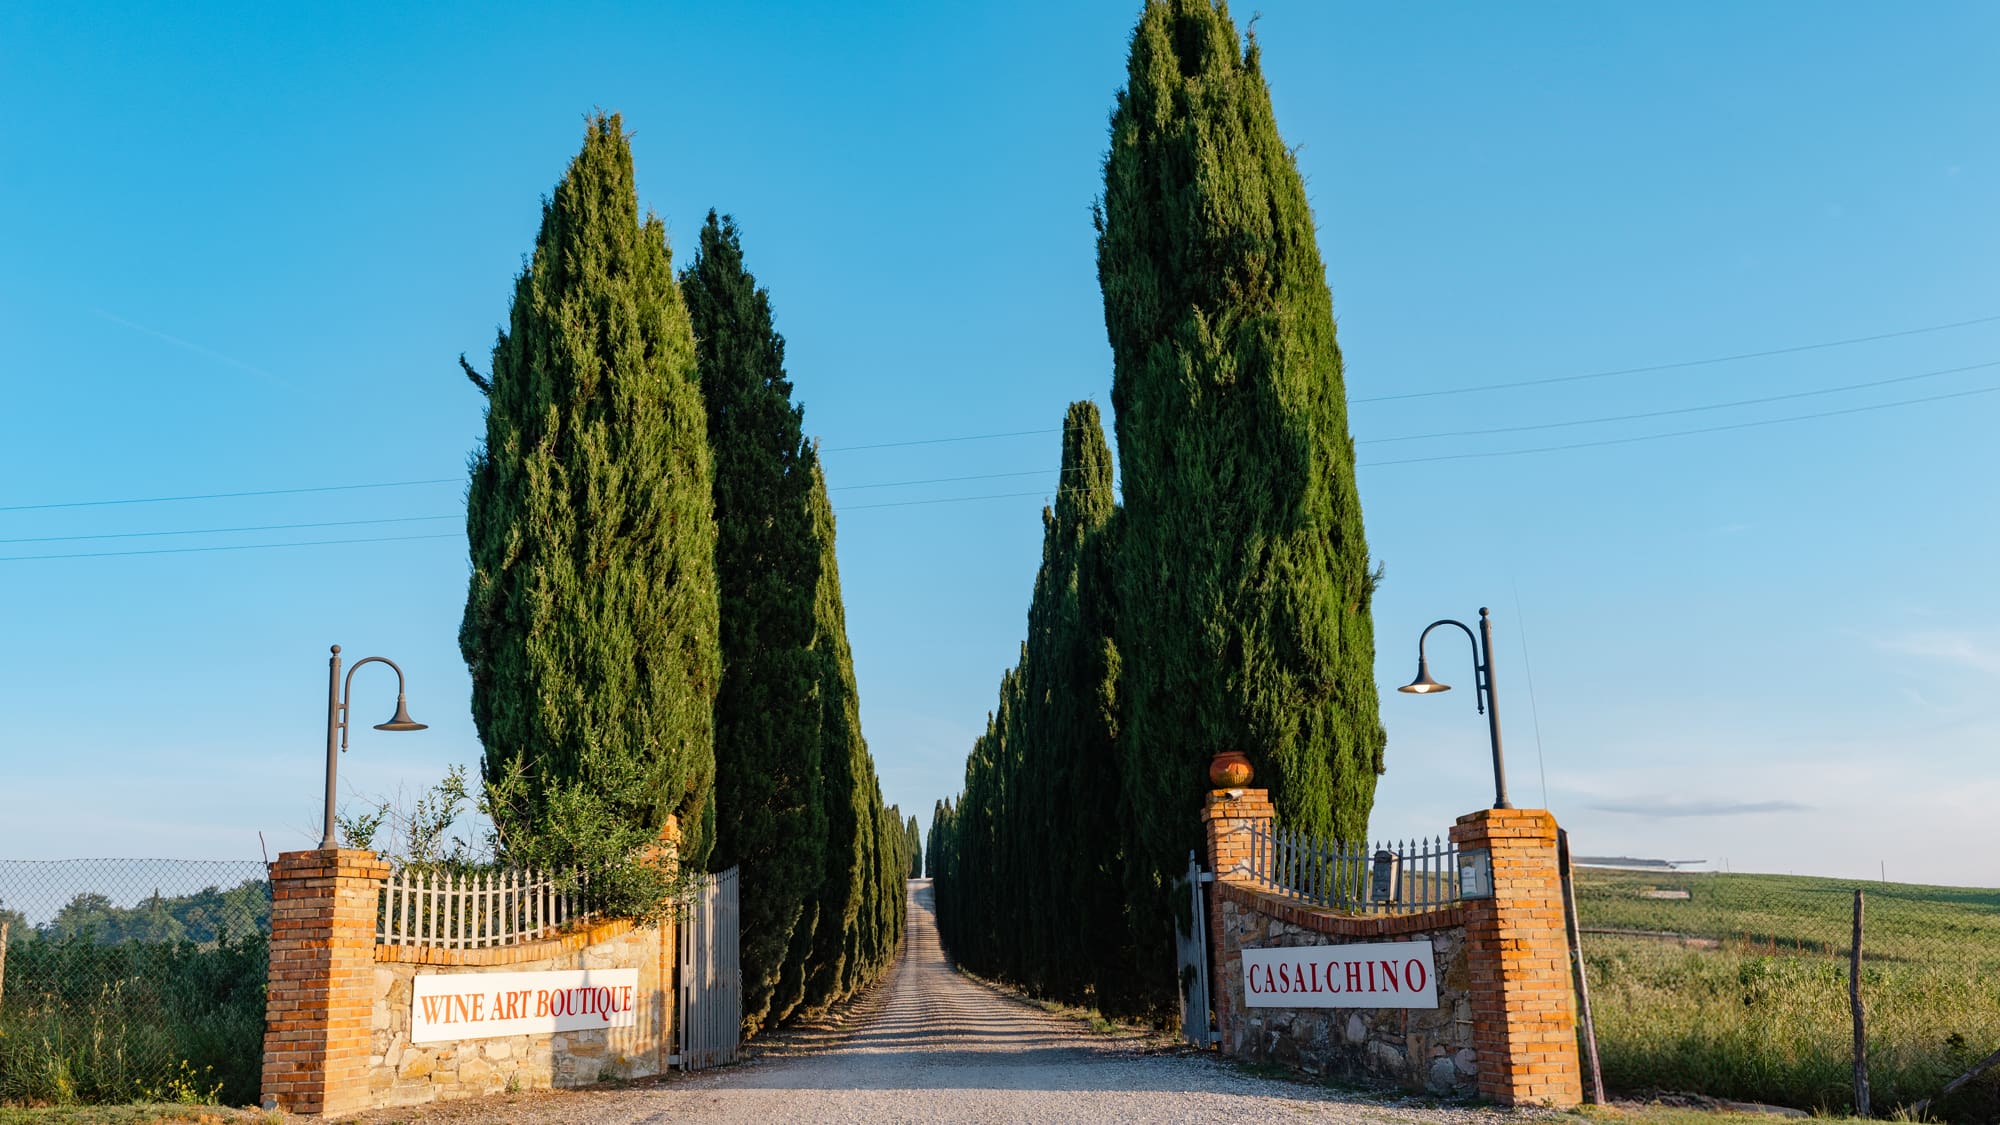
{"label": "tallest cypress tree, sunlit, rising behind the CASALCHINO wall", "polygon": [[[1218,751],[1250,755],[1288,827],[1366,835],[1384,743],[1376,579],[1312,212],[1226,4],[1148,0],[1110,132],[1098,280],[1124,470],[1120,743],[1134,889],[1162,919]],[[1164,923],[1140,925],[1164,959]]]}

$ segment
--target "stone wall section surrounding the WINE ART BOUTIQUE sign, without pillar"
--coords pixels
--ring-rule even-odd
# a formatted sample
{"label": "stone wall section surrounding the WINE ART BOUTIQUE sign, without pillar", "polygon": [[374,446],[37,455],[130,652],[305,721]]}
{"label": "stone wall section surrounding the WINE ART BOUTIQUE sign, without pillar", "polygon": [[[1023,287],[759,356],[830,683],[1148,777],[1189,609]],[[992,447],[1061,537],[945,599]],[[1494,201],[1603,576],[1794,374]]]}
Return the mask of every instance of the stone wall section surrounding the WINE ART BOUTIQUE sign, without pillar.
{"label": "stone wall section surrounding the WINE ART BOUTIQUE sign, without pillar", "polygon": [[[514,1089],[636,1079],[666,1069],[672,1049],[672,931],[604,923],[556,941],[504,949],[378,945],[374,965],[368,1103],[418,1105]],[[536,973],[638,969],[632,1027],[410,1043],[410,981],[420,973]]]}

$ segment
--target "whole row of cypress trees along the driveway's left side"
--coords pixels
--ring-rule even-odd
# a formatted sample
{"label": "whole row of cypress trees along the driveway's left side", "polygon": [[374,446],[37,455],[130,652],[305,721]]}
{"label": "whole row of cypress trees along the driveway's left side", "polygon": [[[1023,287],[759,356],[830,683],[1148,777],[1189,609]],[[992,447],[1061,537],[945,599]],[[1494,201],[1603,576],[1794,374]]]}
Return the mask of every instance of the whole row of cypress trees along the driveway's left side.
{"label": "whole row of cypress trees along the driveway's left side", "polygon": [[676,278],[620,118],[594,116],[492,374],[466,372],[488,410],[460,647],[502,851],[620,867],[672,817],[686,865],[742,869],[748,1033],[866,987],[902,941],[910,843],[734,222],[710,212]]}

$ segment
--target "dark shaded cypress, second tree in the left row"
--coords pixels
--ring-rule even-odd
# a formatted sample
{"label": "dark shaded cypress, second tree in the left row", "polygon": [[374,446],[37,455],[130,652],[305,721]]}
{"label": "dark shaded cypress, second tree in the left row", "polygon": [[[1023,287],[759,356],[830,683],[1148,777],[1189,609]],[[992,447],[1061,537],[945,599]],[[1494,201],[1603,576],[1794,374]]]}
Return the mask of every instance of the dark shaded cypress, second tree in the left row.
{"label": "dark shaded cypress, second tree in the left row", "polygon": [[708,212],[680,286],[708,406],[722,591],[710,867],[742,867],[742,1015],[754,1035],[804,997],[826,867],[812,452],[770,292],[744,268],[734,220]]}

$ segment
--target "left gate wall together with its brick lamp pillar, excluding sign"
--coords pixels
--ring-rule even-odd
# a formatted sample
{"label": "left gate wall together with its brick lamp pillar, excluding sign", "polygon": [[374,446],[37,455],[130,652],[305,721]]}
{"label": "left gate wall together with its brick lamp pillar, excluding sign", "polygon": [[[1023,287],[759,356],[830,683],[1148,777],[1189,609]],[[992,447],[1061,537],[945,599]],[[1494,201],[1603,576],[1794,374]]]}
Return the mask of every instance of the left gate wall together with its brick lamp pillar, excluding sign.
{"label": "left gate wall together with its brick lamp pillar, excluding sign", "polygon": [[[376,945],[388,863],[368,851],[294,851],[272,865],[264,1097],[328,1117],[506,1089],[642,1077],[668,1063],[672,927],[608,921],[498,949]],[[410,1043],[420,973],[638,969],[634,1027]]]}

